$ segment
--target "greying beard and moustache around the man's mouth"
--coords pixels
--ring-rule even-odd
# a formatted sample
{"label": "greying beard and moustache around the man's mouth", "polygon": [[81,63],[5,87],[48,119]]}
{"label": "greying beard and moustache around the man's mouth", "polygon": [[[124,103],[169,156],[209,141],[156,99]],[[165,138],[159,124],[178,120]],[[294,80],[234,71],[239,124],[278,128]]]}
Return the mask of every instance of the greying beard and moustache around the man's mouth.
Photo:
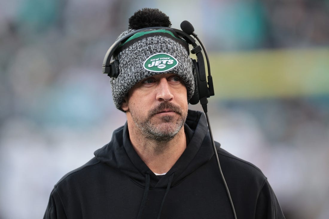
{"label": "greying beard and moustache around the man's mouth", "polygon": [[[159,118],[160,123],[152,122],[153,116],[162,112],[164,109],[176,112],[176,114],[178,114],[178,119],[174,116],[166,115]],[[167,142],[173,139],[182,129],[187,117],[187,112],[183,112],[180,107],[170,102],[162,102],[159,106],[154,107],[147,113],[146,118],[141,118],[132,111],[130,111],[130,113],[141,134],[156,142]]]}

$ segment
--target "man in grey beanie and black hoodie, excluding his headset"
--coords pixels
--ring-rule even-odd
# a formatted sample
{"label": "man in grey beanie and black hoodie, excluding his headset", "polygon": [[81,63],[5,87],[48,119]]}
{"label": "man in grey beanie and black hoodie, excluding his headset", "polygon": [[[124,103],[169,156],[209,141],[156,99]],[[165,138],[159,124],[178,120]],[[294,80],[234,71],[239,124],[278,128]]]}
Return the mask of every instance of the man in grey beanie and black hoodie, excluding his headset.
{"label": "man in grey beanie and black hoodie, excluding his headset", "polygon": [[[157,9],[129,21],[120,37],[170,26]],[[113,100],[127,122],[55,185],[44,218],[234,218],[205,115],[188,109],[195,86],[188,43],[170,28],[146,30],[115,52]],[[262,172],[215,144],[237,218],[284,218]]]}

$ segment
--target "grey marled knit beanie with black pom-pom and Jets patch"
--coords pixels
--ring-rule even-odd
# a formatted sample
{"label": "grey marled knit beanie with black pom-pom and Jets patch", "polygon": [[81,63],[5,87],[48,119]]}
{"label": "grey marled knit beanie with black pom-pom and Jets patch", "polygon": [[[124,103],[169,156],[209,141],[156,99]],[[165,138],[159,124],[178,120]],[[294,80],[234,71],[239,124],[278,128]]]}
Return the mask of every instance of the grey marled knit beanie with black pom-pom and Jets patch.
{"label": "grey marled knit beanie with black pom-pom and Jets patch", "polygon": [[119,37],[146,27],[164,27],[137,32],[123,42],[114,54],[119,74],[110,80],[114,105],[121,109],[124,97],[141,80],[159,74],[178,75],[187,88],[188,100],[194,92],[189,44],[169,27],[167,15],[158,9],[144,8],[129,18],[129,29]]}

